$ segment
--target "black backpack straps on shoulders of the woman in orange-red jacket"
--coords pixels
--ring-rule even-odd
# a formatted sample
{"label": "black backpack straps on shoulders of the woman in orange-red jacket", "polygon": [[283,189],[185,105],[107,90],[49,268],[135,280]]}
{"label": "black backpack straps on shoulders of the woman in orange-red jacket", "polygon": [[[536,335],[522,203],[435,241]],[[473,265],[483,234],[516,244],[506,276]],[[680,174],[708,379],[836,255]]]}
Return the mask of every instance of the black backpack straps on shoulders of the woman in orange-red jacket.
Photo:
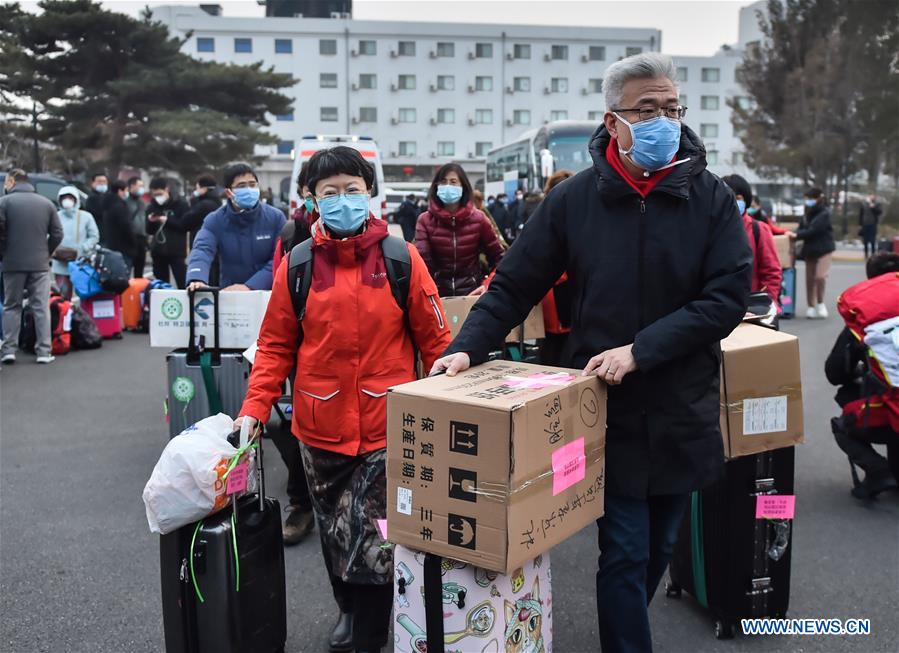
{"label": "black backpack straps on shoulders of the woman in orange-red jacket", "polygon": [[[387,281],[397,306],[407,315],[409,285],[412,278],[412,259],[406,241],[387,236],[381,241],[381,252],[387,268]],[[299,322],[306,316],[306,299],[312,285],[312,239],[308,238],[290,250],[287,279],[290,281],[290,300]],[[408,325],[407,325],[408,328]],[[302,332],[300,337],[302,338]]]}

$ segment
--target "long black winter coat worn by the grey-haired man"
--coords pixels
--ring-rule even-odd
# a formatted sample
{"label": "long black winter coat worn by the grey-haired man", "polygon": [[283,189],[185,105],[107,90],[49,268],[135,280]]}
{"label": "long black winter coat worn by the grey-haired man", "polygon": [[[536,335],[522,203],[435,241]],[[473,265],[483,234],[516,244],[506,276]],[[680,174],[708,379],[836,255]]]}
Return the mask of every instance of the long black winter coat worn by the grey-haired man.
{"label": "long black winter coat worn by the grey-haired man", "polygon": [[499,265],[448,353],[473,364],[521,323],[563,272],[572,288],[564,365],[633,343],[638,370],[609,388],[611,495],[682,494],[719,477],[719,341],[742,319],[752,254],[733,194],[681,131],[678,165],[646,197],[590,142],[593,167],[552,189]]}

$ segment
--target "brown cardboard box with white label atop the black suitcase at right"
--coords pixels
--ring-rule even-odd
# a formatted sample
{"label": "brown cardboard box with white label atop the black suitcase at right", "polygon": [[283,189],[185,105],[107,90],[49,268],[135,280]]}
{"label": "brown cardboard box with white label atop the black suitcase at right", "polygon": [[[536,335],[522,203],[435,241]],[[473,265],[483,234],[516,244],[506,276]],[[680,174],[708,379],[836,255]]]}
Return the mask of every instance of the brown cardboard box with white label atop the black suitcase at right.
{"label": "brown cardboard box with white label atop the black suitcase at right", "polygon": [[737,458],[803,441],[799,339],[741,324],[721,341],[724,455]]}

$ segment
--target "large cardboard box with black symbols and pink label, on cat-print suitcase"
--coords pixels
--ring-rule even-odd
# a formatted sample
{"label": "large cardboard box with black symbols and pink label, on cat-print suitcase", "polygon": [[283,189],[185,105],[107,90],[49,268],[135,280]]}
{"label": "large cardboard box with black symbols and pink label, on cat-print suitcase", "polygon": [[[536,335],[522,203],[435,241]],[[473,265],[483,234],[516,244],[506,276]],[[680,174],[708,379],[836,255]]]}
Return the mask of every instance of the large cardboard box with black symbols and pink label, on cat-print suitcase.
{"label": "large cardboard box with black symbols and pink label, on cat-print suitcase", "polygon": [[512,573],[603,513],[606,388],[495,361],[390,388],[390,540]]}

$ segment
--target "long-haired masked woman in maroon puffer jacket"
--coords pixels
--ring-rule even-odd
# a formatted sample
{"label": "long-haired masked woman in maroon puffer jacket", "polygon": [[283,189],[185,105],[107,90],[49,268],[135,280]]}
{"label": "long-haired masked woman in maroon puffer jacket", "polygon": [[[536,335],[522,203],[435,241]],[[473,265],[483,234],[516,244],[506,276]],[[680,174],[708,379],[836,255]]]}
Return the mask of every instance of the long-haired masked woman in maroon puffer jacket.
{"label": "long-haired masked woman in maroon puffer jacket", "polygon": [[467,295],[481,285],[482,253],[491,269],[503,257],[490,220],[474,208],[471,199],[471,182],[462,166],[447,163],[434,175],[428,210],[418,217],[415,246],[441,297]]}

